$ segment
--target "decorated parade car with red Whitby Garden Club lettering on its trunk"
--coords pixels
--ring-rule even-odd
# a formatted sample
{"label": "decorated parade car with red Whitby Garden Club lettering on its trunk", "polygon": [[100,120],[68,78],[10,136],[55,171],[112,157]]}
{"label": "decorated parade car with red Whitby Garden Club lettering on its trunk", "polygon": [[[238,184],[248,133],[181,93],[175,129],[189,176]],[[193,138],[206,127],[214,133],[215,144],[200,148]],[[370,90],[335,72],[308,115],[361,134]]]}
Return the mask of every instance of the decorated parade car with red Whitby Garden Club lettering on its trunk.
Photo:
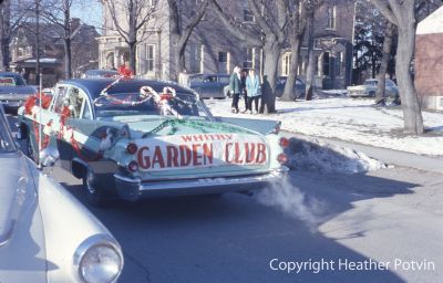
{"label": "decorated parade car with red Whitby Garden Club lettering on its trunk", "polygon": [[28,153],[38,160],[38,145],[56,148],[92,205],[109,195],[250,192],[287,170],[279,122],[214,117],[196,92],[173,82],[70,80],[45,98],[19,115]]}

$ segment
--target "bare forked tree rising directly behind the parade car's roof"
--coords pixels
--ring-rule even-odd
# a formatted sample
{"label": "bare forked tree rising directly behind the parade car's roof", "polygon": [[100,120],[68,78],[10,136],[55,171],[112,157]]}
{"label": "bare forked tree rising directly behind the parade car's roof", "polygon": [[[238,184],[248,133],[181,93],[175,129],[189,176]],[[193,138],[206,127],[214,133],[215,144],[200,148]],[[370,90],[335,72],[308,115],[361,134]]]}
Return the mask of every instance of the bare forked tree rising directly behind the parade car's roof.
{"label": "bare forked tree rising directly behind the parade car's roof", "polygon": [[[184,9],[184,7],[178,8],[177,0],[167,0],[169,7],[169,23],[171,23],[171,38],[173,46],[175,49],[175,72],[172,76],[177,80],[178,72],[185,70],[185,49],[186,44],[193,33],[194,28],[203,19],[206,13],[206,8],[208,7],[208,0],[203,0],[197,7],[187,7],[190,9]],[[184,3],[193,2],[185,1]],[[195,2],[193,2],[195,3]],[[196,10],[196,12],[190,17],[184,14],[185,11]],[[187,22],[184,22],[184,21]]]}

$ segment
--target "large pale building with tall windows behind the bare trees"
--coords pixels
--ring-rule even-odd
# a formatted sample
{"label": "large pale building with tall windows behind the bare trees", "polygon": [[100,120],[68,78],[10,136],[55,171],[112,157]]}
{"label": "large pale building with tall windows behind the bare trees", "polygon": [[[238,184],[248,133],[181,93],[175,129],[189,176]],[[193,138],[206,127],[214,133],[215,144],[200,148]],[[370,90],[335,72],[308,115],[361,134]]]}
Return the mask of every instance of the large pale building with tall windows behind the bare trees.
{"label": "large pale building with tall windows behind the bare trees", "polygon": [[[179,2],[189,2],[192,0]],[[241,20],[245,29],[256,29],[248,1],[219,1],[228,14]],[[158,0],[158,18],[152,25],[152,36],[137,46],[136,73],[146,77],[169,80],[174,70],[174,52],[171,46],[168,9],[166,0]],[[113,21],[106,6],[103,6],[103,35],[99,39],[100,67],[116,67],[128,60],[128,48],[113,29]],[[182,8],[187,15],[193,9]],[[186,19],[186,17],[183,17]],[[158,22],[166,24],[158,25]],[[316,83],[323,88],[344,88],[350,84],[352,67],[352,1],[336,1],[323,6],[316,13]],[[150,23],[151,24],[151,23]],[[154,28],[155,27],[155,28]],[[257,30],[257,29],[256,29]],[[259,32],[257,30],[257,36]],[[307,43],[301,50],[299,75],[307,70]],[[262,69],[262,52],[259,48],[248,46],[226,30],[216,13],[208,8],[204,19],[197,24],[186,46],[186,70],[189,73],[230,73],[235,65],[246,69]],[[284,46],[278,75],[287,76],[290,62],[289,43]]]}

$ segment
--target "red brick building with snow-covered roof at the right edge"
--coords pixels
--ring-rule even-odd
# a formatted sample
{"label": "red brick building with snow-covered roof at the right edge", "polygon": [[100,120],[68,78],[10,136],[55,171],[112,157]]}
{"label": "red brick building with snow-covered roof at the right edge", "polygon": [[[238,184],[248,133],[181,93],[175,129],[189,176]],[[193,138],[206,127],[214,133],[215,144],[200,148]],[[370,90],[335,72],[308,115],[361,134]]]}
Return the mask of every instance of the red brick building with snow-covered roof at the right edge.
{"label": "red brick building with snow-covered roof at the right edge", "polygon": [[415,87],[425,108],[443,111],[443,7],[416,28]]}

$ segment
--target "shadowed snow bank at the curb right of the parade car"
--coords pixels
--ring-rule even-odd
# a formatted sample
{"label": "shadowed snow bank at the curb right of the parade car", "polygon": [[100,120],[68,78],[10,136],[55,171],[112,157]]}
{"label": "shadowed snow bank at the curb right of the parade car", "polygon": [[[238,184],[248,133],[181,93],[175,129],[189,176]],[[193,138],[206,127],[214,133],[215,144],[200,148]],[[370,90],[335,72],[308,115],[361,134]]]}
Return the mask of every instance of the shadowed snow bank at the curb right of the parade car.
{"label": "shadowed snow bank at the curb right of the parade car", "polygon": [[312,138],[291,138],[287,148],[288,166],[320,172],[358,174],[387,168],[387,165],[361,151]]}

